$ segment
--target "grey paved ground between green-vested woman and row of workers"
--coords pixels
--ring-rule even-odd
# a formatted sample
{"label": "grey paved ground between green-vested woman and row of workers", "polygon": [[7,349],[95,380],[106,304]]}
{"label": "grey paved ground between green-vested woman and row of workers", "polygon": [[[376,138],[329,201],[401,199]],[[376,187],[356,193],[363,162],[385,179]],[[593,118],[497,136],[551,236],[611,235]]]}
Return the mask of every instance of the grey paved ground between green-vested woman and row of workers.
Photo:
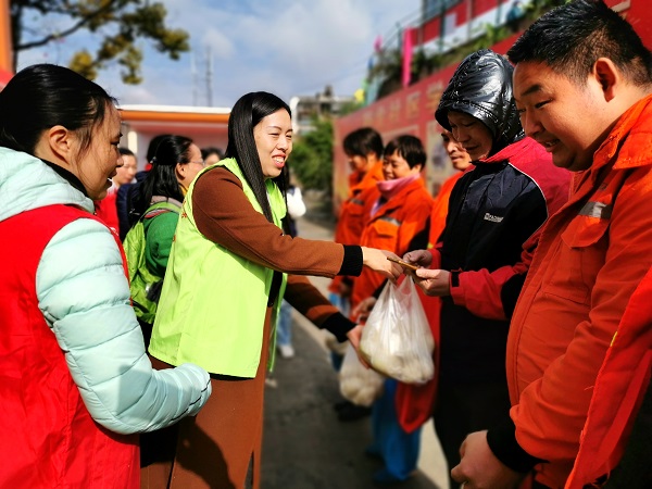
{"label": "grey paved ground between green-vested woman and row of workers", "polygon": [[[301,220],[299,233],[331,239],[329,226]],[[325,289],[327,279],[315,278]],[[333,404],[341,400],[337,376],[324,347],[325,333],[293,313],[297,356],[278,360],[265,391],[262,489],[367,489],[379,462],[367,457],[369,418],[337,419]],[[448,489],[446,463],[431,424],[423,429],[417,473],[401,489]]]}

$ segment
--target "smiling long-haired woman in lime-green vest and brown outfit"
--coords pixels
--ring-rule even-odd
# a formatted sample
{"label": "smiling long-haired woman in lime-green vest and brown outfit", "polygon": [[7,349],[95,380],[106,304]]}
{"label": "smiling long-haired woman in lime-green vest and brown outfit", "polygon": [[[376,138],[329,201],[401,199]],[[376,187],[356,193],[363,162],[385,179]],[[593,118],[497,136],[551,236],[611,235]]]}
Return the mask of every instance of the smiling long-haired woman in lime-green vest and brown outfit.
{"label": "smiling long-haired woman in lime-green vest and brown outfit", "polygon": [[233,108],[225,159],[188,189],[149,351],[160,368],[203,366],[215,402],[178,425],[170,460],[143,468],[150,488],[242,489],[250,464],[259,488],[265,371],[284,294],[317,327],[356,347],[362,327],[305,276],[358,276],[363,265],[390,278],[401,273],[390,252],[284,235],[291,150],[289,106],[272,93],[248,93]]}

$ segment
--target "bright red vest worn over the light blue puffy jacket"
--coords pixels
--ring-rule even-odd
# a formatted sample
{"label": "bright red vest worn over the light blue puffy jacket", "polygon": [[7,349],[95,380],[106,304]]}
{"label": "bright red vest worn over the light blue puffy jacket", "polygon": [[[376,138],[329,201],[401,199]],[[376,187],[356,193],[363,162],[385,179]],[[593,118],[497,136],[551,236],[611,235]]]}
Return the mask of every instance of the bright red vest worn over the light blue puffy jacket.
{"label": "bright red vest worn over the light blue puffy jacket", "polygon": [[38,308],[36,271],[42,252],[77,218],[95,217],[49,205],[0,222],[3,488],[129,489],[140,484],[137,435],[117,435],[92,421]]}

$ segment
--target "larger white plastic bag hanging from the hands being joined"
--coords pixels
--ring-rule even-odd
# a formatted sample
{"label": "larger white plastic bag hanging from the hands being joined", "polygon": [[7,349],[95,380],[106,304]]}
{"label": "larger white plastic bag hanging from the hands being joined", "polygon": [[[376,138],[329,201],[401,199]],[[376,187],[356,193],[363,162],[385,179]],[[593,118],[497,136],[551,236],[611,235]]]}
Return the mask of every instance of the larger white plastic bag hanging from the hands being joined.
{"label": "larger white plastic bag hanging from the hands being joined", "polygon": [[435,375],[435,341],[412,278],[387,283],[362,331],[360,351],[379,373],[404,384]]}

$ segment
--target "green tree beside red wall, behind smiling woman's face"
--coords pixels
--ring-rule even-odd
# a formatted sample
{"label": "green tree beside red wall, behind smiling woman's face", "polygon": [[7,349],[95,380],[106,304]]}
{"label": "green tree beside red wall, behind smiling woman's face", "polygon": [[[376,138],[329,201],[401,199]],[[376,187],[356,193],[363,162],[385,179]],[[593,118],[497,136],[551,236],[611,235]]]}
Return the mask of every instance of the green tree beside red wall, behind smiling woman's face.
{"label": "green tree beside red wall, behind smiling woman's face", "polygon": [[314,129],[297,138],[290,167],[304,189],[333,190],[333,124],[315,117]]}

